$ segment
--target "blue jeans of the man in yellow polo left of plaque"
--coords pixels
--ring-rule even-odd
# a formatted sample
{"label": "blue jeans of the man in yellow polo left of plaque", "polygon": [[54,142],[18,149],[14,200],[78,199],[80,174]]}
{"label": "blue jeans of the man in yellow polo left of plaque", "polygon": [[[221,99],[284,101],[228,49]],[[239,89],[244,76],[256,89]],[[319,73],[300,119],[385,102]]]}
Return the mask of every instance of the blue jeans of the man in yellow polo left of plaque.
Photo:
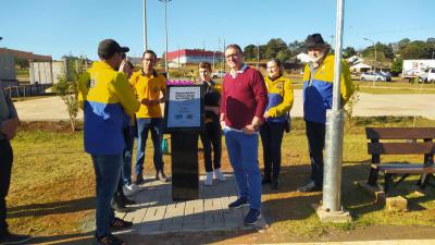
{"label": "blue jeans of the man in yellow polo left of plaque", "polygon": [[135,174],[142,174],[145,150],[148,138],[148,131],[151,131],[152,146],[154,147],[154,168],[156,172],[163,170],[163,154],[162,154],[162,119],[137,119],[137,152],[135,163]]}

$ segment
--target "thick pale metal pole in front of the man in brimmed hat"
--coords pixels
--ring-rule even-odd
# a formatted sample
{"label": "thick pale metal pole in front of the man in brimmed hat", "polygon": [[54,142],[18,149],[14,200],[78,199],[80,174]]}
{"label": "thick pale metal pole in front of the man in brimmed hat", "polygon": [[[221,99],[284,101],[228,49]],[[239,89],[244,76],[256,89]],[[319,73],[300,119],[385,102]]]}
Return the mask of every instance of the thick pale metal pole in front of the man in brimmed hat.
{"label": "thick pale metal pole in front of the man in brimmed hat", "polygon": [[341,46],[344,0],[337,0],[337,26],[335,39],[335,66],[333,109],[326,112],[325,158],[322,210],[328,213],[341,211],[341,160],[344,113],[340,105]]}

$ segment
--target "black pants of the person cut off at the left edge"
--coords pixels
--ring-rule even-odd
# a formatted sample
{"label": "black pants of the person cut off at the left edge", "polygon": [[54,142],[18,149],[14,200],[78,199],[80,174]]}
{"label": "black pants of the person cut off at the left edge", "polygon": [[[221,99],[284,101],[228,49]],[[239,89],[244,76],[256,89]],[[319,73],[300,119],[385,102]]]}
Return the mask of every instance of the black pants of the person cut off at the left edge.
{"label": "black pants of the person cut off at the left edge", "polygon": [[8,232],[7,196],[11,184],[13,152],[7,139],[0,139],[0,236]]}

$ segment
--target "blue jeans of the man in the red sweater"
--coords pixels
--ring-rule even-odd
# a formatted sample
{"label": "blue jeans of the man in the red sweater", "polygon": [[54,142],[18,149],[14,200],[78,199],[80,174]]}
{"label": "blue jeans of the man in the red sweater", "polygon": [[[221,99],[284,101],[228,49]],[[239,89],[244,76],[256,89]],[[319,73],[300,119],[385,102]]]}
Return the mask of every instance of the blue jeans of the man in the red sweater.
{"label": "blue jeans of the man in the red sweater", "polygon": [[258,134],[224,130],[229,162],[236,176],[239,198],[248,198],[250,208],[261,208],[261,174],[258,161]]}

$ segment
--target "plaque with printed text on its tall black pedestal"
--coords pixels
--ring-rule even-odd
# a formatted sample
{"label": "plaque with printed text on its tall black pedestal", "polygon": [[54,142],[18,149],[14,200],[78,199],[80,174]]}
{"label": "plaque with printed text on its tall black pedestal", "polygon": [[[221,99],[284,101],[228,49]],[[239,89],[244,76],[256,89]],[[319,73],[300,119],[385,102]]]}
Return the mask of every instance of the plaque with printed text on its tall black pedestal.
{"label": "plaque with printed text on its tall black pedestal", "polygon": [[172,199],[198,199],[198,136],[204,127],[202,87],[169,86],[164,112],[164,130],[171,133]]}

